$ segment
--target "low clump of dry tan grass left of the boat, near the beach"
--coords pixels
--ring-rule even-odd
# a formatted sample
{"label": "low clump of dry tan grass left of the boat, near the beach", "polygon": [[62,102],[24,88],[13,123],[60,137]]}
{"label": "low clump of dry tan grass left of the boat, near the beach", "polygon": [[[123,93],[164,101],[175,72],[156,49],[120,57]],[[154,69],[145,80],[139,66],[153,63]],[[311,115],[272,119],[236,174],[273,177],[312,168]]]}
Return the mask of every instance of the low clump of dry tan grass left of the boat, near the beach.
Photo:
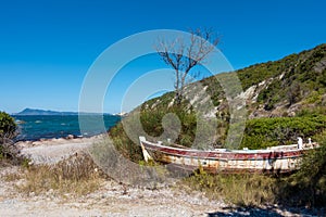
{"label": "low clump of dry tan grass left of the boat, near the beach", "polygon": [[43,194],[53,191],[58,195],[80,196],[96,191],[103,181],[103,175],[87,154],[78,154],[55,165],[38,165],[26,168],[20,176],[18,192]]}

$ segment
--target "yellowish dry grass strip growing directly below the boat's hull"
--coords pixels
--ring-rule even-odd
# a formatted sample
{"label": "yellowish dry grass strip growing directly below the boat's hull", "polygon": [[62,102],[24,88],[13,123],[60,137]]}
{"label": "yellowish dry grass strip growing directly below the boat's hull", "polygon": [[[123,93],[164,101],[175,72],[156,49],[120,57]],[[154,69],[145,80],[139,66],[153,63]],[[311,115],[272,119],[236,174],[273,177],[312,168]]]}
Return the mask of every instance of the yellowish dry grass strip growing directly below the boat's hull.
{"label": "yellowish dry grass strip growing directly below the boat's hull", "polygon": [[223,199],[239,206],[260,206],[275,203],[275,179],[262,175],[195,174],[184,180],[191,190],[199,190],[210,199]]}

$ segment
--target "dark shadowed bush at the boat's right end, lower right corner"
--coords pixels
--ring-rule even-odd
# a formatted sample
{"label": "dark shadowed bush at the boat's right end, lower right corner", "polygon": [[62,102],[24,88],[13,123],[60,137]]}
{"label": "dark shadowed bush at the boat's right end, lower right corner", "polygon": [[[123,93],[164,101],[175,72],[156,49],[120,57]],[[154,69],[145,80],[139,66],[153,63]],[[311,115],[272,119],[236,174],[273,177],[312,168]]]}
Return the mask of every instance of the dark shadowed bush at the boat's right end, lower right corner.
{"label": "dark shadowed bush at the boat's right end, lower right corner", "polygon": [[316,139],[321,148],[312,150],[304,156],[298,173],[278,181],[279,203],[325,207],[326,130]]}

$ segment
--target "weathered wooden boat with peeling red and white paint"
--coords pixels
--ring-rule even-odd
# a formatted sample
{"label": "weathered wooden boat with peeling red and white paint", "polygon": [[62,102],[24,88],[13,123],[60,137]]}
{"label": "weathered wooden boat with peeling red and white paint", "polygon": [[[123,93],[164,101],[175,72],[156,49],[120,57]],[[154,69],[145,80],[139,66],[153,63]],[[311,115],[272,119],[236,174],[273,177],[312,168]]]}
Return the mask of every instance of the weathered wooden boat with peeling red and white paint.
{"label": "weathered wooden boat with peeling red and white paint", "polygon": [[168,164],[185,170],[202,168],[209,173],[275,173],[285,174],[299,169],[305,152],[318,146],[317,143],[272,146],[266,150],[203,151],[163,145],[139,137],[143,157]]}

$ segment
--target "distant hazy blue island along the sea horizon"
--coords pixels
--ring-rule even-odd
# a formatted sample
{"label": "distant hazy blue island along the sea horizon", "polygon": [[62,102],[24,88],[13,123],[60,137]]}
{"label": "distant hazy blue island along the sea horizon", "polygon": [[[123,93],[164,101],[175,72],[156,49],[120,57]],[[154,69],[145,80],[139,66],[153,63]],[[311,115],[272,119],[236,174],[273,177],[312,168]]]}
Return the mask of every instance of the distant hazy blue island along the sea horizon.
{"label": "distant hazy blue island along the sea horizon", "polygon": [[[22,112],[14,113],[13,115],[102,115],[101,113],[78,113],[78,112],[58,112],[51,110],[35,110],[35,108],[25,108]],[[110,113],[103,113],[103,115],[112,115]],[[116,114],[118,115],[118,114]]]}

